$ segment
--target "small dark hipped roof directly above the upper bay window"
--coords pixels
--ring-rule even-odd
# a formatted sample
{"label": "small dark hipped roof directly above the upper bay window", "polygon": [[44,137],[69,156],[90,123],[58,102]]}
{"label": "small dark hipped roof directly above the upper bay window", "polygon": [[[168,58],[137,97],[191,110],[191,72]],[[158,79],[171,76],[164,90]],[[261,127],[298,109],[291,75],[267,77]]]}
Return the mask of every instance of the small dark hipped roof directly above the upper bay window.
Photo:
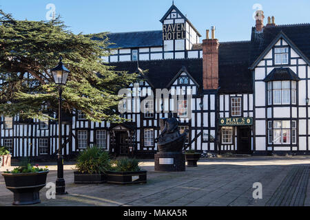
{"label": "small dark hipped roof directly above the upper bay window", "polygon": [[299,81],[300,78],[290,68],[274,68],[270,74],[264,79],[264,82],[278,81],[278,80],[291,80]]}

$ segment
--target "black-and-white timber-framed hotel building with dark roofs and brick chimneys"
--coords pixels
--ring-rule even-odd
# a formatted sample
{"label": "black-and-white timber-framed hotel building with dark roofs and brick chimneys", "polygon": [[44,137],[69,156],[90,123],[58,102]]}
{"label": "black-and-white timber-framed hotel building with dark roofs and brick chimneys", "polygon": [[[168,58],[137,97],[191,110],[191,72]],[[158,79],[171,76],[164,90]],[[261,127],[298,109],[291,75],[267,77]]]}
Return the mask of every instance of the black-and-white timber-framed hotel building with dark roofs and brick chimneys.
{"label": "black-and-white timber-framed hotel building with dark roofs and brick chimneys", "polygon": [[[103,57],[107,65],[143,72],[128,88],[135,98],[123,117],[130,122],[90,122],[76,111],[63,118],[63,153],[98,145],[114,155],[152,157],[159,120],[174,111],[196,151],[308,154],[310,24],[269,19],[264,25],[263,12],[257,15],[250,41],[218,43],[212,30],[200,43],[201,34],[175,5],[160,20],[162,30],[108,34],[114,45]],[[191,98],[154,98],[142,113],[139,104],[156,89]],[[0,135],[13,157],[49,157],[58,149],[54,121],[1,116]]]}

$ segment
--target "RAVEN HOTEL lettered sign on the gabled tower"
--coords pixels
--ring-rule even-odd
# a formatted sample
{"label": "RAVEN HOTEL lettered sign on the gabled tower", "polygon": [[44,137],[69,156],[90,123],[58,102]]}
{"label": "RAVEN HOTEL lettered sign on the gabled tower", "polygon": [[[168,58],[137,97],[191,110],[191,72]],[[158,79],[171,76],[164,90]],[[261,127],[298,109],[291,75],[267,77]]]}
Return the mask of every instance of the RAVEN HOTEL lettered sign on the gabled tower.
{"label": "RAVEN HOTEL lettered sign on the gabled tower", "polygon": [[185,23],[163,25],[163,41],[180,40],[186,37]]}

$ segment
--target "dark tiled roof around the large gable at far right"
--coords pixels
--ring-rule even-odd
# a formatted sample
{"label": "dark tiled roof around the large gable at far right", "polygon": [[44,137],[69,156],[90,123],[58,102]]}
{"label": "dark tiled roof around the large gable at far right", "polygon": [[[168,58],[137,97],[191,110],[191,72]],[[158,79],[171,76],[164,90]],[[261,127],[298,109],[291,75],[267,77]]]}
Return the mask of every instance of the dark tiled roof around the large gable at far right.
{"label": "dark tiled roof around the large gable at far right", "polygon": [[288,41],[307,63],[310,61],[310,24],[267,26],[262,33],[256,33],[252,28],[251,35],[251,68],[271,50],[277,39]]}

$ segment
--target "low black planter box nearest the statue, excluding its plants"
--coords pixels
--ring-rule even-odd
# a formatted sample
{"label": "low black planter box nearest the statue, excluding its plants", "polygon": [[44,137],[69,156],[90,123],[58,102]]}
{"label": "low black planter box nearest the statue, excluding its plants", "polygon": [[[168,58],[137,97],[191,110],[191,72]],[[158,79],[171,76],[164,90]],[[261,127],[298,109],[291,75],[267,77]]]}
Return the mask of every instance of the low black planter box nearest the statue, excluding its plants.
{"label": "low black planter box nearest the statue, excluding its plants", "polygon": [[140,170],[135,172],[116,172],[107,171],[107,183],[108,184],[146,184],[147,183],[147,171]]}

